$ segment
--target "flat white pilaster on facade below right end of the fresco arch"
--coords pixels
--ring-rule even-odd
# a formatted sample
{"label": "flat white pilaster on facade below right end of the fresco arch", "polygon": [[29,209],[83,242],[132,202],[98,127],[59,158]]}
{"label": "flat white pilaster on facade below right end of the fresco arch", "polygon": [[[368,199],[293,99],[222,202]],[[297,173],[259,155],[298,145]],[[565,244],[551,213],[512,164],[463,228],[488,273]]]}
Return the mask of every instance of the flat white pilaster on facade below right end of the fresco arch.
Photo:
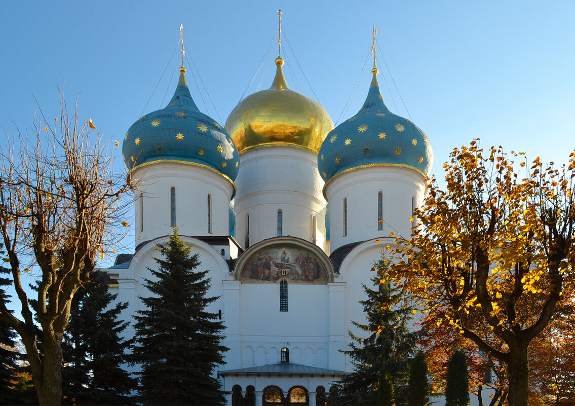
{"label": "flat white pilaster on facade below right end of the fresco arch", "polygon": [[329,369],[344,371],[345,355],[340,352],[345,348],[346,330],[344,328],[344,289],[346,282],[331,282],[329,288]]}

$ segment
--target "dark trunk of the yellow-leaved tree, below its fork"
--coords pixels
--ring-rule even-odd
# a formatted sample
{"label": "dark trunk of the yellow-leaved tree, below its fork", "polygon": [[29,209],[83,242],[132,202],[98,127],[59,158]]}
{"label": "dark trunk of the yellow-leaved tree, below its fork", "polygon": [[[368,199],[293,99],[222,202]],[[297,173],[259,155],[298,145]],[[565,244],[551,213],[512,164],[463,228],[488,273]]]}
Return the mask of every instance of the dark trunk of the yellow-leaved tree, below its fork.
{"label": "dark trunk of the yellow-leaved tree, below its fork", "polygon": [[507,378],[509,392],[507,402],[509,406],[527,405],[529,393],[529,359],[527,358],[526,343],[509,347],[509,363],[507,364]]}

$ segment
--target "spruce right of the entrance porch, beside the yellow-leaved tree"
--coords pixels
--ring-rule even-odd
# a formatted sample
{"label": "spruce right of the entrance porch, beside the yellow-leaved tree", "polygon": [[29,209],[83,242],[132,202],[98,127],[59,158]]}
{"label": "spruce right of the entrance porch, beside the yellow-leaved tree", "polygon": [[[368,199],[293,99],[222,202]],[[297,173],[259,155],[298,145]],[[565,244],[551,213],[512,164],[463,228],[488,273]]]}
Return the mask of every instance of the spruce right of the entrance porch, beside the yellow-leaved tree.
{"label": "spruce right of the entrance porch, beside the yellow-leaved tree", "polygon": [[[383,256],[374,266],[381,274],[388,270]],[[367,298],[359,302],[367,324],[352,321],[370,335],[361,338],[349,332],[352,343],[343,353],[351,358],[354,371],[338,382],[338,399],[330,399],[330,404],[373,405],[382,399],[382,393],[394,393],[397,405],[407,404],[409,361],[416,346],[416,333],[408,330],[409,321],[413,319],[412,309],[396,305],[402,302],[400,289],[380,280],[379,275],[371,281],[375,289],[363,285]],[[384,392],[379,391],[380,382],[387,382],[386,374],[391,378],[393,392],[384,388]]]}

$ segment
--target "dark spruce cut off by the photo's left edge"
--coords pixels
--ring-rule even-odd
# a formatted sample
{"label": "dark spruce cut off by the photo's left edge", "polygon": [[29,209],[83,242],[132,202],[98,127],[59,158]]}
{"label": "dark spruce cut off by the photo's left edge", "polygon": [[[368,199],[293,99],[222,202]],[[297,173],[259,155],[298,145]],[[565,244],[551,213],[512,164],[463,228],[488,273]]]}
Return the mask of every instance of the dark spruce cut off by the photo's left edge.
{"label": "dark spruce cut off by the photo's left edge", "polygon": [[[1,246],[0,246],[1,247]],[[9,269],[0,267],[0,274],[6,274]],[[10,296],[3,289],[10,285],[10,279],[0,277],[0,306],[7,308],[6,304]],[[11,313],[11,311],[9,311]],[[20,393],[15,388],[18,378],[18,360],[22,355],[16,350],[16,331],[7,324],[0,323],[0,404],[14,405],[22,404]]]}

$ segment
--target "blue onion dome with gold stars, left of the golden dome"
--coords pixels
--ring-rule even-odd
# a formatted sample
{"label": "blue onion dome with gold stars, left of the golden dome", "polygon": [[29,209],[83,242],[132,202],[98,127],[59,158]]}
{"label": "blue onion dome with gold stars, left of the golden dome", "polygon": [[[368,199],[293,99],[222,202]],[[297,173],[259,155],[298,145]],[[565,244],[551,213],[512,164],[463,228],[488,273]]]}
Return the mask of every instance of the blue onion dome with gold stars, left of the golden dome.
{"label": "blue onion dome with gold stars, left of the golden dome", "polygon": [[191,98],[186,69],[168,105],[145,114],[124,137],[122,155],[128,170],[160,162],[208,167],[233,182],[240,157],[233,140],[213,118],[201,113]]}

